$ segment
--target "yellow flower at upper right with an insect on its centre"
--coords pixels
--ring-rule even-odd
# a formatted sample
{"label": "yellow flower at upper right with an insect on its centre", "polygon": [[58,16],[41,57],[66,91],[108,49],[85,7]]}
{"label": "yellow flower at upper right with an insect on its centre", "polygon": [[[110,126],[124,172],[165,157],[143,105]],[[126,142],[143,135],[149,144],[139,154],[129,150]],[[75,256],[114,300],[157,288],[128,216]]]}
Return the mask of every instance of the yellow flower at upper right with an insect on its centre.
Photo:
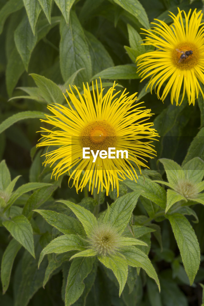
{"label": "yellow flower at upper right with an insect on its centre", "polygon": [[[149,87],[152,93],[153,87],[157,91],[157,97],[164,101],[171,89],[171,103],[176,101],[180,105],[185,92],[189,104],[195,103],[199,90],[204,98],[199,81],[204,83],[204,23],[202,11],[191,15],[180,11],[175,16],[170,13],[173,24],[168,26],[164,21],[155,19],[158,23],[152,22],[156,26],[150,30],[145,30],[146,39],[144,45],[152,45],[156,48],[137,57],[138,72],[142,80],[151,76]],[[182,15],[183,13],[183,15]],[[191,17],[190,17],[191,15]],[[183,18],[184,17],[184,18]],[[185,26],[184,26],[185,23]],[[141,80],[141,82],[142,82]],[[161,86],[165,82],[165,87],[160,95]],[[179,101],[179,94],[183,92]]]}

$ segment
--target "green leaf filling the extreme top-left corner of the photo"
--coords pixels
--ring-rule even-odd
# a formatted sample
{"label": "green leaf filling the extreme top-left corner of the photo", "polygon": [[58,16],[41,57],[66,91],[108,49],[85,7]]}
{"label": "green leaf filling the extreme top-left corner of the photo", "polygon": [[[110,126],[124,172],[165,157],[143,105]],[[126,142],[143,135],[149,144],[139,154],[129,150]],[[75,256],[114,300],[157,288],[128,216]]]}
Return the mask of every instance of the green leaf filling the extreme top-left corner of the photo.
{"label": "green leaf filling the extreme top-left corner of the photo", "polygon": [[0,10],[0,34],[3,31],[3,26],[4,23],[7,19],[7,17],[18,11],[19,9],[21,9],[23,7],[23,2],[22,0],[9,0],[6,1],[5,5],[2,7],[2,9]]}

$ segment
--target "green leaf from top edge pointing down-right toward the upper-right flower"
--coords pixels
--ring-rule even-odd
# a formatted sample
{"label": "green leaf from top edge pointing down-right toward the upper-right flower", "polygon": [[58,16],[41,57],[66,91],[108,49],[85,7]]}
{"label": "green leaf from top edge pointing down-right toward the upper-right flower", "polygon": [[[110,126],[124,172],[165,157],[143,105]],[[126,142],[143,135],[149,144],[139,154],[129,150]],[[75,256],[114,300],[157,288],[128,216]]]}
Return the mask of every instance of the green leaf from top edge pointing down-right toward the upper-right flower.
{"label": "green leaf from top edge pointing down-right toward the upper-right flower", "polygon": [[149,20],[145,9],[138,0],[113,0],[127,12],[132,14],[145,27],[150,28]]}

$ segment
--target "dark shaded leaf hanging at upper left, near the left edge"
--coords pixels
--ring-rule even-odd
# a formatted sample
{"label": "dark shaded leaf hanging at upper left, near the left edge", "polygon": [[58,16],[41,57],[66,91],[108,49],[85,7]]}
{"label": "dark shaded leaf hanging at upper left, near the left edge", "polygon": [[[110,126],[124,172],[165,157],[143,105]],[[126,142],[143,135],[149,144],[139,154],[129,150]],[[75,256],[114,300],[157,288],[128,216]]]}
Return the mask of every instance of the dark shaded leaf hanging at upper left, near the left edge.
{"label": "dark shaded leaf hanging at upper left, near the left edge", "polygon": [[13,89],[16,87],[16,84],[24,71],[25,66],[16,47],[14,46],[6,65],[6,90],[9,97],[12,96]]}

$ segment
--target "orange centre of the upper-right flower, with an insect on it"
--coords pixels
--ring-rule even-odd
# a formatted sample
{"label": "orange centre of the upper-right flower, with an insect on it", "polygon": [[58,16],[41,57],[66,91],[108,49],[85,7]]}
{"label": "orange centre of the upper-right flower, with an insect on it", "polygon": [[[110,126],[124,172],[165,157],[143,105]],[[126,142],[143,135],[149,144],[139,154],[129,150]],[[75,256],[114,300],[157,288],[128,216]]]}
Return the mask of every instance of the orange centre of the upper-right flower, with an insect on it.
{"label": "orange centre of the upper-right flower, with an insect on it", "polygon": [[172,51],[172,61],[181,70],[193,68],[199,59],[200,52],[194,43],[179,43]]}

